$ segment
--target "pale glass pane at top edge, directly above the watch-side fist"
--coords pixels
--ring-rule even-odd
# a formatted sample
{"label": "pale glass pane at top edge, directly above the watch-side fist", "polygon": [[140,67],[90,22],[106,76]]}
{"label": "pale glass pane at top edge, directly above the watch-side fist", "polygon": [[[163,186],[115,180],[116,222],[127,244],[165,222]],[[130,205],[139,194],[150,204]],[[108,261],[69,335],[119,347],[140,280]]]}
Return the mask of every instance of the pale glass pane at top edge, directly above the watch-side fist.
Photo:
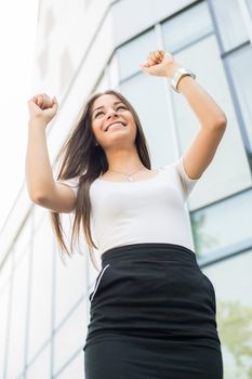
{"label": "pale glass pane at top edge, directly above the watch-side fist", "polygon": [[211,32],[212,29],[208,5],[202,2],[162,24],[164,47],[174,52]]}

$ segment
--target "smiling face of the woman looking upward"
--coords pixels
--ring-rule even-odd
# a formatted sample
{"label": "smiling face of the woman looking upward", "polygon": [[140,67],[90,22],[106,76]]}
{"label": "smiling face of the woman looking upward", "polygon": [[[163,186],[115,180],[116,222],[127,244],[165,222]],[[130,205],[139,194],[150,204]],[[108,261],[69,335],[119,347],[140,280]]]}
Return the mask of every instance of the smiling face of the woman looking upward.
{"label": "smiling face of the woman looking upward", "polygon": [[91,109],[92,130],[103,148],[125,147],[135,140],[136,125],[127,104],[114,94],[96,99]]}

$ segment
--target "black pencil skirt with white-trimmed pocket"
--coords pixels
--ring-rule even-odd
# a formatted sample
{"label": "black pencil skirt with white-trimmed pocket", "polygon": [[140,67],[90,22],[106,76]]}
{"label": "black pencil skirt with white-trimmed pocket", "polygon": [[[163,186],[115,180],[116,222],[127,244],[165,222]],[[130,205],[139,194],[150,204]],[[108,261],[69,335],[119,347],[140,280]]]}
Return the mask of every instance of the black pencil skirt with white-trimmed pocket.
{"label": "black pencil skirt with white-trimmed pocket", "polygon": [[85,379],[223,378],[215,291],[190,249],[109,249],[89,299]]}

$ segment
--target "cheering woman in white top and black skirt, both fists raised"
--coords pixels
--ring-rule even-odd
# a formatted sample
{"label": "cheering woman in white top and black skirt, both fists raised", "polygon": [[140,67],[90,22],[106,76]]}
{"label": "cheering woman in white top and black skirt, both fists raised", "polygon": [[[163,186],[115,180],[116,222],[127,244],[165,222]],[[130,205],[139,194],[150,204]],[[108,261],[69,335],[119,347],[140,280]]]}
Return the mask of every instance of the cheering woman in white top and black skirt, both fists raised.
{"label": "cheering woman in white top and black skirt, both fists raised", "polygon": [[135,110],[106,91],[88,101],[54,181],[44,132],[57,101],[36,95],[28,102],[29,196],[51,210],[63,250],[69,253],[58,213],[72,211],[71,245],[82,222],[91,251],[101,251],[89,296],[87,379],[221,379],[215,292],[196,261],[185,200],[214,157],[226,117],[168,52],[150,52],[141,67],[171,79],[196,114],[200,129],[188,151],[151,170]]}

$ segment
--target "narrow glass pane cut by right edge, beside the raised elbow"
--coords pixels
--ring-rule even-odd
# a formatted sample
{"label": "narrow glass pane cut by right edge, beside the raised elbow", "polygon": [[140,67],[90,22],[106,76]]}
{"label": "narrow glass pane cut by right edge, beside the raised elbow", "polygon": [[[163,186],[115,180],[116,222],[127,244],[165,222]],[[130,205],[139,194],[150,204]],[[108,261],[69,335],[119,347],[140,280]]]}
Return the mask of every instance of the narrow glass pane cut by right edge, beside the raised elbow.
{"label": "narrow glass pane cut by right edge, beside the raised elbow", "polygon": [[247,133],[252,148],[252,49],[243,48],[230,56],[227,62],[230,67],[239,105],[247,127]]}

